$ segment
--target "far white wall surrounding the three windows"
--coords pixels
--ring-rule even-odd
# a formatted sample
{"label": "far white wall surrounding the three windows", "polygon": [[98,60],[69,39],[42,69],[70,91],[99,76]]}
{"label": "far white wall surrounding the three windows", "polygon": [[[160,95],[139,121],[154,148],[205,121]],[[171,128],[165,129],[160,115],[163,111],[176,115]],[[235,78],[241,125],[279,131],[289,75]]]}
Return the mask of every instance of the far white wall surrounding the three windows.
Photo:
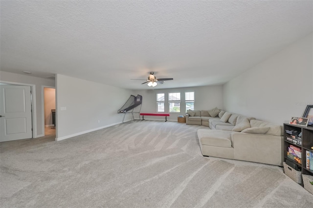
{"label": "far white wall surrounding the three windows", "polygon": [[[166,84],[166,83],[165,83]],[[168,93],[180,92],[180,113],[170,113],[168,120],[177,121],[177,116],[185,115],[185,92],[195,92],[195,110],[210,110],[214,107],[223,107],[223,85],[185,87],[171,89],[136,90],[135,95],[142,95],[142,113],[157,113],[156,94],[164,93],[165,95],[165,112],[168,113]],[[137,116],[138,117],[138,116]],[[136,117],[136,118],[137,118]],[[165,120],[162,117],[145,116],[145,119]]]}

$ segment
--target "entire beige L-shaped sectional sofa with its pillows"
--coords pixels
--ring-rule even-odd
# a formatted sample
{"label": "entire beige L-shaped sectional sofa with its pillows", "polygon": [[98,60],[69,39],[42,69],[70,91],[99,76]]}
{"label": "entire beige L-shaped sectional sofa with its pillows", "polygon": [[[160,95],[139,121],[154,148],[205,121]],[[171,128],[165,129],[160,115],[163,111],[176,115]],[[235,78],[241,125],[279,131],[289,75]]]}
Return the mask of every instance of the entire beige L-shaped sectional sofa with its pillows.
{"label": "entire beige L-shaped sectional sofa with its pillows", "polygon": [[198,130],[203,156],[283,166],[282,126],[224,111],[220,111],[215,117],[201,116],[201,112],[200,116],[196,116],[199,111],[194,116],[187,112],[186,124],[211,128]]}

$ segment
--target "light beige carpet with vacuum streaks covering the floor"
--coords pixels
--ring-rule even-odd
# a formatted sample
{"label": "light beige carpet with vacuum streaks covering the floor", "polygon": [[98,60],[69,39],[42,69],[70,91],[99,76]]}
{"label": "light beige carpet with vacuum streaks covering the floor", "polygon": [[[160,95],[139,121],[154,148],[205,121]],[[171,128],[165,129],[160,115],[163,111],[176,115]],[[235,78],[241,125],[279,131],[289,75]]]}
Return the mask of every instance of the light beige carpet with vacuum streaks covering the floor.
{"label": "light beige carpet with vacuum streaks covering the floor", "polygon": [[281,167],[203,157],[197,130],[135,121],[0,144],[0,207],[313,207]]}

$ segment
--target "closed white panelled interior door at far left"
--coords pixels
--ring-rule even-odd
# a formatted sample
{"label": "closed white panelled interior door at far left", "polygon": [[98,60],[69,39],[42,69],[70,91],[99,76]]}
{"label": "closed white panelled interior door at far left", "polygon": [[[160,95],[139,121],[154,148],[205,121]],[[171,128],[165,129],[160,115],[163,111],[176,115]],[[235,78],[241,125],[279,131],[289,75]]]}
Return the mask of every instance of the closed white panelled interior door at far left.
{"label": "closed white panelled interior door at far left", "polygon": [[0,85],[0,142],[32,138],[30,86]]}

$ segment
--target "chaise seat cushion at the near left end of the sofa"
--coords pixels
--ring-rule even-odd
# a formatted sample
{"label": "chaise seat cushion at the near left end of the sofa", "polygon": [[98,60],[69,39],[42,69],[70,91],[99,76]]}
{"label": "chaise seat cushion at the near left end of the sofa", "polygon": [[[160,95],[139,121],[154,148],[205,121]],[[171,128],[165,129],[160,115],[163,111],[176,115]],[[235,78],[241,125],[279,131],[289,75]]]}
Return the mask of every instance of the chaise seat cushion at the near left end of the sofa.
{"label": "chaise seat cushion at the near left end of the sofa", "polygon": [[199,129],[198,137],[202,145],[231,147],[231,131]]}

